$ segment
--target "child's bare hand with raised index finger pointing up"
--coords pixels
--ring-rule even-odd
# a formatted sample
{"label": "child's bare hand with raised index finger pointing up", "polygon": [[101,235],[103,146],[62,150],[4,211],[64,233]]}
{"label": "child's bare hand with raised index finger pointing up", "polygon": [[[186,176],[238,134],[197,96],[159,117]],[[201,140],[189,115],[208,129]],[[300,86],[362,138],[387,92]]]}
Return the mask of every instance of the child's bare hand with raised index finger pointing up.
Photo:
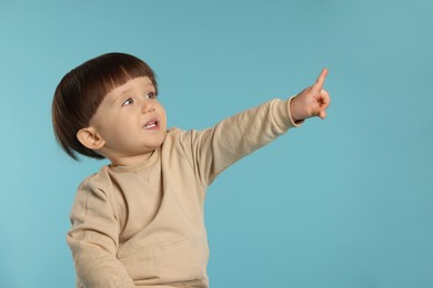
{"label": "child's bare hand with raised index finger pointing up", "polygon": [[323,69],[315,83],[301,91],[290,103],[290,112],[293,121],[300,122],[309,117],[326,117],[326,109],[331,97],[323,89],[328,75],[328,69]]}

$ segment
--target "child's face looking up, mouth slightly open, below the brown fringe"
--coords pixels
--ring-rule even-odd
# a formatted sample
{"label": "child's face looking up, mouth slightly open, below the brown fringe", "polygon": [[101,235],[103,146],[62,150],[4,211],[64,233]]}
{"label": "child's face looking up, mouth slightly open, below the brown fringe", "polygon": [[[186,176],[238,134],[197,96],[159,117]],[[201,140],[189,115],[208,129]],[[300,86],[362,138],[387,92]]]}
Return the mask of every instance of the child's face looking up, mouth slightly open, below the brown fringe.
{"label": "child's face looking up, mouth slightly open, below the brown fringe", "polygon": [[135,78],[102,100],[90,121],[103,141],[99,150],[115,165],[148,158],[164,141],[167,116],[149,78]]}

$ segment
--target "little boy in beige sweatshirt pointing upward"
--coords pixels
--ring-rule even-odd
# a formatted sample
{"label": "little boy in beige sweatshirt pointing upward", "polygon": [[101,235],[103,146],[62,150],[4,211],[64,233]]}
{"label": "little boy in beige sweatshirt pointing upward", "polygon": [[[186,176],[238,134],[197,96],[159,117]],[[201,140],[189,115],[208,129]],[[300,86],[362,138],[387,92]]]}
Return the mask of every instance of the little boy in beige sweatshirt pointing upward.
{"label": "little boy in beige sweatshirt pointing upward", "polygon": [[167,128],[154,73],[135,56],[103,54],[64,75],[52,103],[59,144],[75,160],[110,161],[82,182],[72,206],[77,287],[209,287],[207,187],[290,127],[324,119],[326,74],[204,131]]}

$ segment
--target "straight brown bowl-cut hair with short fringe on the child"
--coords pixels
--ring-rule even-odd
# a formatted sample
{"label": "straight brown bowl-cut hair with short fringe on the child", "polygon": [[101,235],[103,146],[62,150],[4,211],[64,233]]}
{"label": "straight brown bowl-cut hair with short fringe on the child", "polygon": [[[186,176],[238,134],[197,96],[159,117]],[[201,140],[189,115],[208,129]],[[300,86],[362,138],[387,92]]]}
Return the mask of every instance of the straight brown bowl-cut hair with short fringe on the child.
{"label": "straight brown bowl-cut hair with short fringe on the child", "polygon": [[78,160],[79,153],[103,158],[83,146],[77,132],[89,126],[110,91],[139,76],[148,76],[158,89],[154,72],[142,60],[124,53],[107,53],[82,63],[62,78],[52,101],[52,125],[58,143],[69,156]]}

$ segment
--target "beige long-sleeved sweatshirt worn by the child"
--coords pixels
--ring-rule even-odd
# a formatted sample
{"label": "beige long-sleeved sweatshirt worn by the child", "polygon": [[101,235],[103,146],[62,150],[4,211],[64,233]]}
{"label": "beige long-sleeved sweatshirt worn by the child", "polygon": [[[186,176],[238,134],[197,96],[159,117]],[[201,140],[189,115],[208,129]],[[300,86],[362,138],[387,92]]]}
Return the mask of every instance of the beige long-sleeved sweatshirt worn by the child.
{"label": "beige long-sleeved sweatshirt worn by the child", "polygon": [[295,126],[289,102],[266,102],[204,131],[171,128],[145,162],[103,166],[84,179],[67,237],[77,287],[208,287],[207,187]]}

